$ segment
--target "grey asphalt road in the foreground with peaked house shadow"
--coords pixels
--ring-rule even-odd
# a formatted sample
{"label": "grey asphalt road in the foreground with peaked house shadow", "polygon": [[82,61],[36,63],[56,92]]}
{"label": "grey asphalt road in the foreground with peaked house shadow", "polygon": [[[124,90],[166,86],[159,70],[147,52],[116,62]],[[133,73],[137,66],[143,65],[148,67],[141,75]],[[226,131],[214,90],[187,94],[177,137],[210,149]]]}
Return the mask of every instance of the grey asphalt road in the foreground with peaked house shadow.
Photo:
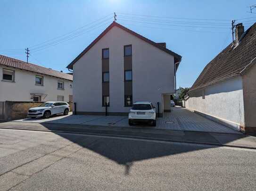
{"label": "grey asphalt road in the foreground with peaked house shadow", "polygon": [[0,130],[0,191],[255,191],[256,150]]}

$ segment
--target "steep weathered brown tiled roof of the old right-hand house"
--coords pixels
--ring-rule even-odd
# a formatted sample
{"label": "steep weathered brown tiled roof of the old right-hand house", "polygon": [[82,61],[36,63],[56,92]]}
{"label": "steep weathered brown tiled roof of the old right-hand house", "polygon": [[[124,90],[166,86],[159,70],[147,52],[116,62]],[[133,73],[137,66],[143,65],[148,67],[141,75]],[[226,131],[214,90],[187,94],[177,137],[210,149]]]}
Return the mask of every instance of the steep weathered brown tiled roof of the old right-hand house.
{"label": "steep weathered brown tiled roof of the old right-hand house", "polygon": [[256,23],[239,39],[239,44],[231,43],[198,76],[190,91],[222,81],[231,76],[240,75],[241,71],[256,57]]}

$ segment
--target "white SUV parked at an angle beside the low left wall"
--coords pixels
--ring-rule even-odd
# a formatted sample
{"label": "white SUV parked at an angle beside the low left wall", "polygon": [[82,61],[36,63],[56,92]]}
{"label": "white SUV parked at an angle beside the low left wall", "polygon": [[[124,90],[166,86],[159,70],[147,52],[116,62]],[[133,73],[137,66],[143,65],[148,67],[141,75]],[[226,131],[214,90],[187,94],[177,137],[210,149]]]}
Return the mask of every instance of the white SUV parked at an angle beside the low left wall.
{"label": "white SUV parked at an angle beside the low left wall", "polygon": [[28,110],[28,117],[44,117],[49,118],[51,115],[64,114],[68,115],[69,105],[64,101],[47,101],[39,107],[32,107]]}

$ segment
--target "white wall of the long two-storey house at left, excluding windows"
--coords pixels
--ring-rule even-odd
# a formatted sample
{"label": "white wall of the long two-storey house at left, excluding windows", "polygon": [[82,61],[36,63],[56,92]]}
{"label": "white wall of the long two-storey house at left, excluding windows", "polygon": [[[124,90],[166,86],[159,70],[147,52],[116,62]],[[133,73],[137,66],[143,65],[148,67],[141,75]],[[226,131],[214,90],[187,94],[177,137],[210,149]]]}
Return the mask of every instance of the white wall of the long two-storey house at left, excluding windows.
{"label": "white wall of the long two-storey house at left, excluding windows", "polygon": [[[3,69],[15,71],[14,82],[3,80]],[[35,76],[43,76],[43,85],[35,84]],[[64,89],[58,89],[58,81],[64,83]],[[0,101],[33,101],[37,99],[34,97],[41,99],[39,101],[57,101],[58,96],[70,101],[72,84],[66,79],[0,65]]]}

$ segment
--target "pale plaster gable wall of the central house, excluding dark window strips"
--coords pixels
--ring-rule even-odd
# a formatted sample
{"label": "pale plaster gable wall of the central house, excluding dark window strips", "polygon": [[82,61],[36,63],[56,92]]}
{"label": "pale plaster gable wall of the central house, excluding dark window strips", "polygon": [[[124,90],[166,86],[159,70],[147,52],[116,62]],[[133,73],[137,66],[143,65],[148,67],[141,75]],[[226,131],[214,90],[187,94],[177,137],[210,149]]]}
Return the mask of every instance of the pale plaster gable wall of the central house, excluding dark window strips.
{"label": "pale plaster gable wall of the central house, excluding dark window strips", "polygon": [[174,93],[174,57],[114,26],[73,66],[74,102],[78,112],[105,112],[102,107],[102,49],[109,48],[108,112],[129,112],[124,107],[124,46],[132,45],[132,99],[160,103]]}

